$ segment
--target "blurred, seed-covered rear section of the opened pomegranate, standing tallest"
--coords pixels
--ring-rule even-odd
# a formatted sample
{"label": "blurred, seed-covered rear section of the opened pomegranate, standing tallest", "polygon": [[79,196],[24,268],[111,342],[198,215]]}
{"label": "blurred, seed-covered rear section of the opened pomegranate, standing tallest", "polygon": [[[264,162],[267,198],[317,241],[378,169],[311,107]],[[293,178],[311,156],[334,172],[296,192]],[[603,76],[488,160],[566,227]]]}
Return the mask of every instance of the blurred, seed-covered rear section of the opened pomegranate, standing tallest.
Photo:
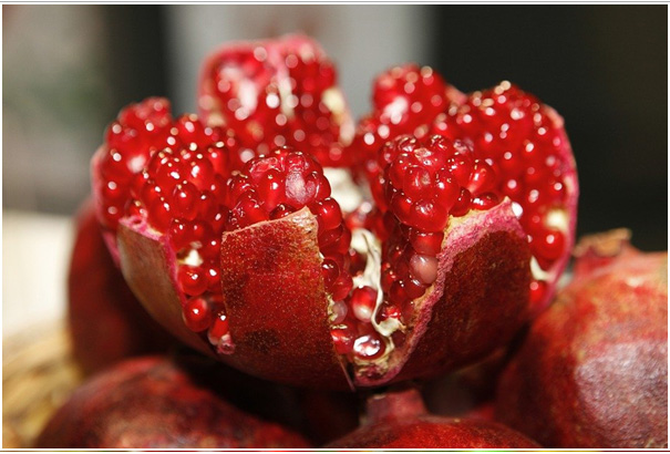
{"label": "blurred, seed-covered rear section of the opened pomegranate, standing tallest", "polygon": [[334,64],[308,37],[234,42],[202,69],[198,109],[209,125],[235,131],[250,157],[278,146],[315,155],[321,165],[350,165],[342,146],[353,120]]}

